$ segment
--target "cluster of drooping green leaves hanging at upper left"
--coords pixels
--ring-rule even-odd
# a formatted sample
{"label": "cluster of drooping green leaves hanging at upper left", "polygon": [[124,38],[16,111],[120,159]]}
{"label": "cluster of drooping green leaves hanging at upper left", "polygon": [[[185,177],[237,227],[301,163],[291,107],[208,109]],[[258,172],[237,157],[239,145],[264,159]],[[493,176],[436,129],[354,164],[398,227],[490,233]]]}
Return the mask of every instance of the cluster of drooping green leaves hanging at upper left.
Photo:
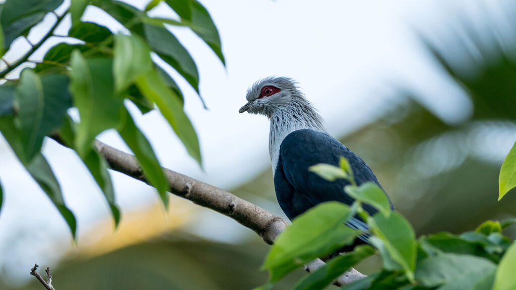
{"label": "cluster of drooping green leaves hanging at upper left", "polygon": [[[115,0],[72,0],[62,14],[63,0],[7,0],[0,4],[0,57],[13,41],[27,37],[46,15],[55,23],[31,50],[0,71],[0,132],[33,179],[46,192],[67,221],[75,237],[76,221],[62,198],[59,182],[41,147],[52,136],[82,159],[109,205],[115,224],[120,220],[106,160],[95,147],[95,137],[116,130],[133,151],[143,176],[153,185],[165,206],[169,188],[150,142],[126,108],[134,103],[142,114],[155,108],[163,114],[188,153],[201,165],[197,134],[183,110],[183,94],[174,79],[156,65],[161,58],[199,92],[199,73],[187,49],[167,25],[188,27],[224,63],[217,28],[196,0],[167,0],[179,19],[152,18],[148,11],[162,1],[152,1],[144,11]],[[107,27],[81,20],[85,9],[96,6],[122,24],[129,33],[114,35]],[[72,26],[67,35],[78,44],[59,43],[41,61],[30,56],[54,36],[66,15]],[[63,37],[62,35],[60,37]],[[152,57],[151,57],[152,56]],[[21,65],[36,63],[12,78]],[[202,99],[201,99],[202,100]],[[72,119],[70,108],[78,110]],[[0,189],[0,206],[2,204]]]}

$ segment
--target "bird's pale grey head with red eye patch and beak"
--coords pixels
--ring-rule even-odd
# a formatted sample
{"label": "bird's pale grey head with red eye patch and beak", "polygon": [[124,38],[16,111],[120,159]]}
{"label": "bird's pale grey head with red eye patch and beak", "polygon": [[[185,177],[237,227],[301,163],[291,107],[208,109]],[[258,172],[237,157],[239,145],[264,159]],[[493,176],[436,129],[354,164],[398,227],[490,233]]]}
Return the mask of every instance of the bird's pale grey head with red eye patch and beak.
{"label": "bird's pale grey head with red eye patch and beak", "polygon": [[246,94],[247,104],[238,110],[250,114],[270,117],[277,110],[295,106],[296,102],[305,101],[296,82],[288,77],[266,77],[258,80]]}

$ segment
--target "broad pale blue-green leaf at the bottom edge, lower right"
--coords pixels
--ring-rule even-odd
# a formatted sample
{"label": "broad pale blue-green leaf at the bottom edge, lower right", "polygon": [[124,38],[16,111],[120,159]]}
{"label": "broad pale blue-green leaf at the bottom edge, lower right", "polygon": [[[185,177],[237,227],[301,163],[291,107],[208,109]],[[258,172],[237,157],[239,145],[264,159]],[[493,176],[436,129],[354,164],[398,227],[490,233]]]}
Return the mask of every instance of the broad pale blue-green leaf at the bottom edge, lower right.
{"label": "broad pale blue-green leaf at the bottom edge, lower right", "polygon": [[416,279],[427,287],[439,289],[471,289],[496,269],[496,265],[481,257],[444,253],[430,256],[417,265]]}

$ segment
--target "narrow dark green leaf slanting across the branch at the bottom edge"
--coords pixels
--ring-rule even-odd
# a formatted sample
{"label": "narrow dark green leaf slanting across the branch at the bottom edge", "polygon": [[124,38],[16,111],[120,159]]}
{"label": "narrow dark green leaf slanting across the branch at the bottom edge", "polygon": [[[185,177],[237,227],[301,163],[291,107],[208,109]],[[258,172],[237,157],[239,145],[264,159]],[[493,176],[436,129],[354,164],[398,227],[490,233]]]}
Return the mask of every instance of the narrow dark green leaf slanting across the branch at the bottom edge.
{"label": "narrow dark green leaf slanting across the branch at the bottom edge", "polygon": [[366,257],[374,254],[375,251],[368,245],[358,246],[353,252],[339,255],[331,259],[326,265],[315,272],[301,279],[294,289],[296,290],[317,290],[331,284],[338,276],[358,264]]}

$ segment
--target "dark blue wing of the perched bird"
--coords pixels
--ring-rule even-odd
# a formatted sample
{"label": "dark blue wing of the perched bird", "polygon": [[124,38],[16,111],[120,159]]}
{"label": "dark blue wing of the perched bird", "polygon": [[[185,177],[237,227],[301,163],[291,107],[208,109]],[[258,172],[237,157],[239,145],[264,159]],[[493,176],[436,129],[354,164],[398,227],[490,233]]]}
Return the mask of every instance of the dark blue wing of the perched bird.
{"label": "dark blue wing of the perched bird", "polygon": [[[274,181],[278,201],[289,218],[325,201],[340,201],[348,205],[353,203],[354,200],[343,189],[349,185],[349,181],[340,179],[329,182],[308,170],[310,166],[319,163],[338,166],[341,156],[348,159],[358,185],[374,182],[380,186],[375,174],[363,160],[330,135],[304,129],[285,137],[280,146]],[[376,208],[368,204],[364,204],[363,208],[370,215],[377,212]],[[354,229],[367,229],[367,224],[358,217],[346,224]]]}

